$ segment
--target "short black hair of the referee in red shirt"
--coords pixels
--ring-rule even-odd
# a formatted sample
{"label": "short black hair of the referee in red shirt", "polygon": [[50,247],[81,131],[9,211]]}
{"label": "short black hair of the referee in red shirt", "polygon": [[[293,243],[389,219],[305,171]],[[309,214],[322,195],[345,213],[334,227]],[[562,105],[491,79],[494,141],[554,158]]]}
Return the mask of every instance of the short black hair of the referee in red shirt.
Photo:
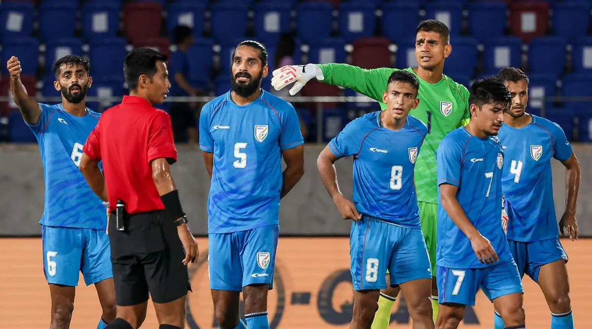
{"label": "short black hair of the referee in red shirt", "polygon": [[123,76],[130,91],[138,87],[138,79],[141,75],[152,79],[158,70],[156,62],[166,62],[168,58],[165,54],[150,48],[136,48],[127,54],[123,63]]}

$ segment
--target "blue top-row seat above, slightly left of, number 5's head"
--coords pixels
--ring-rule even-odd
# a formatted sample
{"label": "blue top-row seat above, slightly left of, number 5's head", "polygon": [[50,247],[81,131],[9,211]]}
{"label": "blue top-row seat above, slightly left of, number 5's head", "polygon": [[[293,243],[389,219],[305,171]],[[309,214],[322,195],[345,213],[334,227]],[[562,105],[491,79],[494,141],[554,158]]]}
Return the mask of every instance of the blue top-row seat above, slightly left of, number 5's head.
{"label": "blue top-row seat above, slightly left of, number 5's head", "polygon": [[[232,22],[232,24],[229,24]],[[226,44],[243,37],[247,29],[247,5],[217,3],[211,6],[211,33],[214,40]]]}

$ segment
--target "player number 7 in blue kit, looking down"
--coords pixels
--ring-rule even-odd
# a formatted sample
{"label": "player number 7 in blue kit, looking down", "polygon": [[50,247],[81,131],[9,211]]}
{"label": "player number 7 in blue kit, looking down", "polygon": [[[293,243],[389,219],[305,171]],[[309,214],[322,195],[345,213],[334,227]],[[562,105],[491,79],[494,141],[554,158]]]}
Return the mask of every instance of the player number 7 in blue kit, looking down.
{"label": "player number 7 in blue kit, looking down", "polygon": [[469,96],[471,121],[437,150],[436,328],[457,328],[479,288],[507,328],[525,328],[522,282],[500,224],[504,151],[496,135],[510,104],[501,80],[478,80]]}

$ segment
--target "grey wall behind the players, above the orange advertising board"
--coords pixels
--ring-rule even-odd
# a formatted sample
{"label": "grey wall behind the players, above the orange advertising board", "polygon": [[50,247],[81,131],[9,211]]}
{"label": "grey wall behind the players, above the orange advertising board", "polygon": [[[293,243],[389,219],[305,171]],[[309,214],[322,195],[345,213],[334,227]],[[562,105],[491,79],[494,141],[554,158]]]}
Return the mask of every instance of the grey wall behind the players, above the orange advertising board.
{"label": "grey wall behind the players, above the orange advertising board", "polygon": [[[280,233],[283,236],[348,236],[350,222],[341,220],[321,182],[316,159],[324,144],[306,144],[305,173],[281,202]],[[592,145],[574,144],[582,178],[577,209],[581,236],[592,237]],[[197,146],[178,146],[178,162],[172,168],[189,226],[197,236],[207,235],[209,178]],[[38,236],[43,214],[44,179],[37,145],[0,145],[0,236]],[[565,207],[565,169],[553,162],[553,185],[558,220]],[[336,162],[342,192],[352,195],[352,160]]]}

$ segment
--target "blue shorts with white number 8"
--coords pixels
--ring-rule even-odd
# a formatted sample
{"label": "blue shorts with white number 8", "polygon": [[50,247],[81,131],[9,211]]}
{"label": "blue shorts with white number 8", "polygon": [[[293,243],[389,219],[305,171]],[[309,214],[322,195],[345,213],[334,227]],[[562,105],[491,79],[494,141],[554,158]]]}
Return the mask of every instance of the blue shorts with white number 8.
{"label": "blue shorts with white number 8", "polygon": [[431,279],[432,270],[422,230],[371,217],[352,224],[349,238],[353,289],[387,288],[417,279]]}

